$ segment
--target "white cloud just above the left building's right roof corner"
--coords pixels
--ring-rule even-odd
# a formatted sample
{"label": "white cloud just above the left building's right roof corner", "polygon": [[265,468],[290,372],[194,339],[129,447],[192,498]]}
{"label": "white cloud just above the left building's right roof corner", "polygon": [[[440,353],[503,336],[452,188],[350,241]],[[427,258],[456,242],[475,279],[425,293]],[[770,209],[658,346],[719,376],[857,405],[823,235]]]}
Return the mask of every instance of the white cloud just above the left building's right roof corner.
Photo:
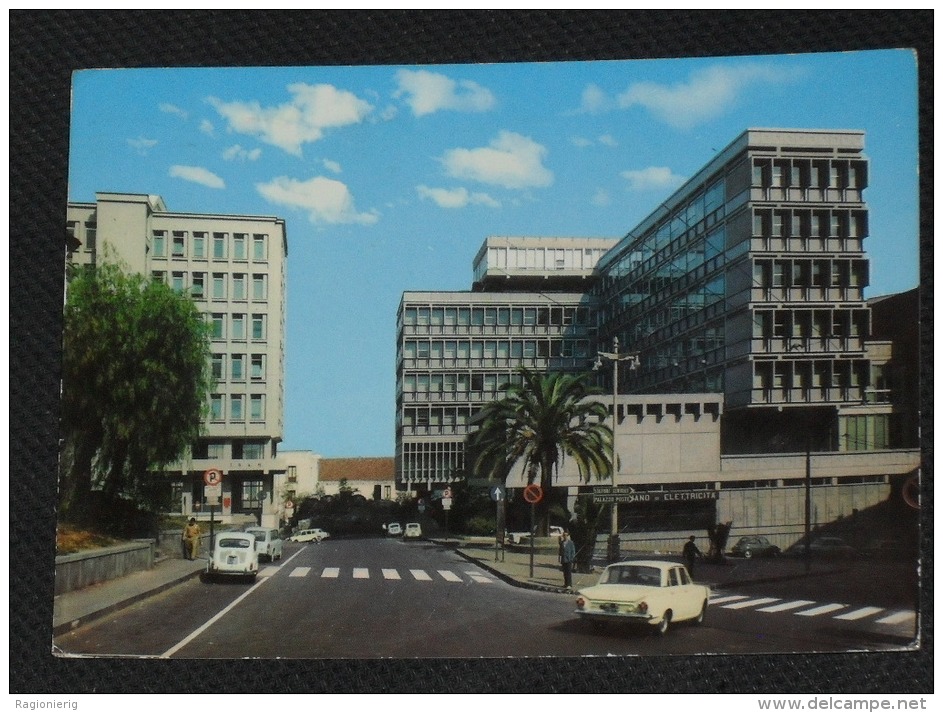
{"label": "white cloud just above the left building's right roof corner", "polygon": [[379,220],[375,211],[358,213],[347,186],[331,178],[315,176],[298,181],[280,176],[255,187],[270,203],[307,211],[312,223],[373,225]]}

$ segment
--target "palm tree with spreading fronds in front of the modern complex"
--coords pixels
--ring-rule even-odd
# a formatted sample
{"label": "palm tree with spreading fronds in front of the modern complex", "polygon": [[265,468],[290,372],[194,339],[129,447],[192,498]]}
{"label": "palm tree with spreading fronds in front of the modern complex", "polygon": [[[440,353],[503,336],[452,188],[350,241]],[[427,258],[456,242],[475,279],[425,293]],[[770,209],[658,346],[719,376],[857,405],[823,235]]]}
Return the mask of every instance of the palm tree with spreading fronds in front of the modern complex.
{"label": "palm tree with spreading fronds in front of the modern complex", "polygon": [[[567,456],[576,461],[580,480],[608,476],[612,429],[606,406],[589,398],[601,393],[587,383],[590,375],[526,368],[520,374],[521,383],[504,385],[504,397],[482,409],[478,430],[468,435],[470,470],[504,482],[518,464],[528,484],[539,476],[545,494]],[[544,497],[537,506],[541,534],[547,532],[548,505]]]}

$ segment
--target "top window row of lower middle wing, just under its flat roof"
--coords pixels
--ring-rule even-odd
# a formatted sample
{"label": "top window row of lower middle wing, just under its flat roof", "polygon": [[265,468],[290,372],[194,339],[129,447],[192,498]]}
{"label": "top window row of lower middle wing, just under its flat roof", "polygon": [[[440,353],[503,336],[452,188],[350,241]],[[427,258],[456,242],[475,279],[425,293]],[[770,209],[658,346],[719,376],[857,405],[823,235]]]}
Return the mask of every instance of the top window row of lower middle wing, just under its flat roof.
{"label": "top window row of lower middle wing, just under its flat roof", "polygon": [[589,323],[586,307],[406,307],[406,326],[569,326]]}

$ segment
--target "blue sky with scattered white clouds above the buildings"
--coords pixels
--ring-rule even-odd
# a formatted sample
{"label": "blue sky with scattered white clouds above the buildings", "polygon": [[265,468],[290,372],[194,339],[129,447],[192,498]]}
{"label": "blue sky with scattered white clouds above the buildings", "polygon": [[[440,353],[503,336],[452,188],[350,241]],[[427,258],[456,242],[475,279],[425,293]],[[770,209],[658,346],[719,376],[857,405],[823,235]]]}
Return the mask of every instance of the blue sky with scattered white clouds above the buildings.
{"label": "blue sky with scattered white clouds above the buildings", "polygon": [[469,289],[489,235],[622,237],[748,127],[864,130],[867,294],[918,284],[906,50],[87,70],[72,106],[70,200],[285,219],[282,449],[392,455],[403,291]]}

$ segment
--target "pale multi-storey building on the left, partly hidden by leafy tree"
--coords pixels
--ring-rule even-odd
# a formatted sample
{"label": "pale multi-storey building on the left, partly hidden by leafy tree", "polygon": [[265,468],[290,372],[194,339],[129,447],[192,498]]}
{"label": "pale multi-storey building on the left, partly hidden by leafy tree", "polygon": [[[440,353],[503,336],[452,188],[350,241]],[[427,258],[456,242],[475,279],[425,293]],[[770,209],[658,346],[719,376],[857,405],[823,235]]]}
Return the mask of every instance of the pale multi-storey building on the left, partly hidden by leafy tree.
{"label": "pale multi-storey building on the left, partly hidden by leafy tree", "polygon": [[188,293],[212,326],[205,435],[167,471],[172,509],[205,513],[203,473],[223,472],[222,519],[278,524],[283,434],[285,261],[281,218],[176,213],[155,195],[97,193],[69,203],[75,264],[117,262]]}

